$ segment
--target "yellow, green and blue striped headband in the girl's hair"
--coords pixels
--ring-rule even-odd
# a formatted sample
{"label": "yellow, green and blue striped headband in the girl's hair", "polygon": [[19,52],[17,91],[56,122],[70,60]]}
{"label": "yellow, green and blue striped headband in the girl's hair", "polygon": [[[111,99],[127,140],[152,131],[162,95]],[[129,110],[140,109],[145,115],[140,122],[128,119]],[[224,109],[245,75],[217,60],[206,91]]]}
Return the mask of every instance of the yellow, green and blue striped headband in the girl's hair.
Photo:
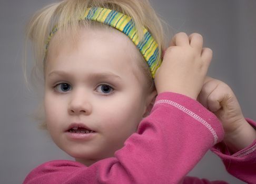
{"label": "yellow, green and blue striped headband in the girl's hair", "polygon": [[[135,46],[140,50],[147,65],[150,67],[152,78],[155,77],[155,71],[160,67],[162,63],[161,52],[159,51],[158,44],[150,34],[150,32],[143,27],[143,39],[139,41],[139,34],[135,28],[133,19],[130,16],[124,15],[120,12],[116,12],[112,9],[91,7],[85,10],[81,20],[96,21],[120,30],[127,35]],[[54,26],[52,32],[47,38],[46,51],[50,43],[51,38],[57,31],[57,26]]]}

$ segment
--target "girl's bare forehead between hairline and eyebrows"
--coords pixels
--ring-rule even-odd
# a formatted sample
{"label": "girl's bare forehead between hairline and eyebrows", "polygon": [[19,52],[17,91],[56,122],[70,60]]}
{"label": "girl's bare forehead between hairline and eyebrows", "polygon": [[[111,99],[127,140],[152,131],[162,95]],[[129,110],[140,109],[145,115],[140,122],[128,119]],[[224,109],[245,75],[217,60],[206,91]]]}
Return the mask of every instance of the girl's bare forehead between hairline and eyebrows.
{"label": "girl's bare forehead between hairline and eyebrows", "polygon": [[119,30],[106,26],[82,27],[77,33],[55,34],[48,50],[46,71],[47,68],[64,67],[65,64],[71,65],[74,63],[72,61],[82,59],[83,66],[93,63],[90,66],[98,69],[111,68],[121,72],[125,69],[136,76],[141,75],[137,67],[138,62],[141,62],[140,52],[130,38]]}

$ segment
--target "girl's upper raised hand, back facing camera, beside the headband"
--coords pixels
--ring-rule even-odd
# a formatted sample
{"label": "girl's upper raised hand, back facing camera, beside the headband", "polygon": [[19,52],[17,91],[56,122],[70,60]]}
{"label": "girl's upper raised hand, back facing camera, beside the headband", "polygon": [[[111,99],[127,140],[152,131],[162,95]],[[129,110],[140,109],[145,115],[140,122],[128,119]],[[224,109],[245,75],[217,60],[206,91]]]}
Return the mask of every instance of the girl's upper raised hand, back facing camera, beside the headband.
{"label": "girl's upper raised hand, back facing camera, beside the headband", "polygon": [[202,48],[200,34],[176,34],[165,50],[163,63],[155,74],[157,93],[171,91],[198,97],[212,59],[212,50]]}

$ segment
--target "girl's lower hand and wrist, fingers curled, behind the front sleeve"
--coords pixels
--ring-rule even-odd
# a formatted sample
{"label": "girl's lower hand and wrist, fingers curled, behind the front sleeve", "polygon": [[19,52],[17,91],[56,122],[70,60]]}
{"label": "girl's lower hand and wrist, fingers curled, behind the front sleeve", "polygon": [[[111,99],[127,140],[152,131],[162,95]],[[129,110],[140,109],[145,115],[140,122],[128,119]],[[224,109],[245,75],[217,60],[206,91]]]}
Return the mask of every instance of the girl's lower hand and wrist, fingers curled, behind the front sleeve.
{"label": "girl's lower hand and wrist, fingers curled, behind the front sleeve", "polygon": [[206,77],[198,101],[222,122],[224,142],[232,153],[249,146],[256,139],[256,130],[244,119],[238,100],[227,84]]}

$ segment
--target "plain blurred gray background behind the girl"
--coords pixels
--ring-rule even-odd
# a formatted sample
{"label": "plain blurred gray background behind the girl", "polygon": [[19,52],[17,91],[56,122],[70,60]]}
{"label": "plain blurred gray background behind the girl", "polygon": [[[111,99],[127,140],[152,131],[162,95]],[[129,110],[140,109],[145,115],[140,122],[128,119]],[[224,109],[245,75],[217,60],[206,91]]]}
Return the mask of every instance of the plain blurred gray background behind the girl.
{"label": "plain blurred gray background behind the girl", "polygon": [[[47,160],[72,159],[29,117],[38,100],[26,90],[22,74],[27,20],[38,8],[51,2],[0,2],[0,183],[21,183],[29,171]],[[214,53],[209,75],[228,83],[240,101],[244,116],[256,119],[256,1],[154,0],[152,3],[171,25],[173,33],[198,32],[204,36],[205,46]],[[230,176],[210,151],[190,175],[243,183]]]}

